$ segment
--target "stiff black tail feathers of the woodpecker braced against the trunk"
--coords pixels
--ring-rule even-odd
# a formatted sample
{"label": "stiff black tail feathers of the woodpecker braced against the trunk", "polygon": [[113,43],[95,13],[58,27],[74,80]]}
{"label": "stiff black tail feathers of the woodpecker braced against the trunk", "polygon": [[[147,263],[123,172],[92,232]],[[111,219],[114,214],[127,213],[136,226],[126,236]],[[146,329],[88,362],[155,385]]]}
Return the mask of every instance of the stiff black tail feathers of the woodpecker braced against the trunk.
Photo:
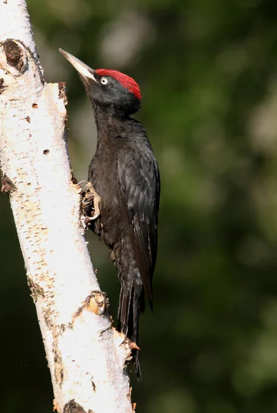
{"label": "stiff black tail feathers of the woodpecker braced against the trunk", "polygon": [[[144,311],[144,291],[142,286],[131,286],[126,288],[123,285],[120,290],[120,302],[118,306],[118,330],[135,344],[138,345],[138,330],[140,314]],[[137,379],[142,379],[140,370],[139,350],[132,350],[133,363]]]}

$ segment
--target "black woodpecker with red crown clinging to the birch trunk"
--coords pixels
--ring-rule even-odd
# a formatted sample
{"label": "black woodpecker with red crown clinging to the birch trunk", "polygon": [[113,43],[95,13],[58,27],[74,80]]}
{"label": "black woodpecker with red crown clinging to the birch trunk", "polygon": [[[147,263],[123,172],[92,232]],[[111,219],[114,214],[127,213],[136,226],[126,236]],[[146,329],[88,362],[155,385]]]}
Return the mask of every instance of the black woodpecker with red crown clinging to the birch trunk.
{"label": "black woodpecker with red crown clinging to the birch trunk", "polygon": [[91,220],[89,228],[109,248],[118,271],[118,330],[131,340],[140,380],[139,318],[145,295],[153,311],[160,198],[159,167],[151,143],[142,123],[131,117],[140,109],[142,94],[130,76],[118,70],[93,70],[59,51],[80,75],[94,112],[97,146],[88,182],[99,205],[95,205],[98,219]]}

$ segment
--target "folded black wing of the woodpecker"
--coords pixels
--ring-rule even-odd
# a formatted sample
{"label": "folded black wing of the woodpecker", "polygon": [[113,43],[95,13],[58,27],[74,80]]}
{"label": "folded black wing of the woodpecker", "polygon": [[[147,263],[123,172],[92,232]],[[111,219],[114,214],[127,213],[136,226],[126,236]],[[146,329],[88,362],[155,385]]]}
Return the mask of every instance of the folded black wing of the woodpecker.
{"label": "folded black wing of the woodpecker", "polygon": [[148,138],[132,140],[118,153],[122,214],[152,308],[152,278],[157,257],[159,168]]}

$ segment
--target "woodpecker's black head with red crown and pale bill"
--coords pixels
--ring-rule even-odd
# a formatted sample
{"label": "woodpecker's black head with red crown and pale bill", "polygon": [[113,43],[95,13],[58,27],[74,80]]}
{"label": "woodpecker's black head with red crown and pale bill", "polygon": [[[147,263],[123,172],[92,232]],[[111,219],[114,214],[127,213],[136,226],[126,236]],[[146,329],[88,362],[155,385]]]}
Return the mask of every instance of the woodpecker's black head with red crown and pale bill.
{"label": "woodpecker's black head with red crown and pale bill", "polygon": [[64,50],[59,51],[80,74],[93,109],[100,107],[104,112],[120,117],[130,116],[140,109],[142,95],[133,78],[118,70],[93,70]]}

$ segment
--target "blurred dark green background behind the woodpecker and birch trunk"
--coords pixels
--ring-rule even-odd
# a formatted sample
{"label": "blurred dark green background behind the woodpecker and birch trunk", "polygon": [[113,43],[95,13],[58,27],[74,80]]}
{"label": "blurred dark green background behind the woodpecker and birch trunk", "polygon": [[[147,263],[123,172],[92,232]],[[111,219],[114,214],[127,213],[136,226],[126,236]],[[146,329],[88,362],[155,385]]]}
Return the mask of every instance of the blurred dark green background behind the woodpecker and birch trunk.
{"label": "blurred dark green background behind the woodpecker and birch trunk", "polygon": [[[162,179],[154,313],[141,317],[137,413],[277,411],[277,3],[28,0],[46,81],[66,81],[87,178],[93,114],[58,47],[133,76]],[[1,412],[52,412],[8,197],[0,197]],[[116,314],[119,282],[87,234]]]}

